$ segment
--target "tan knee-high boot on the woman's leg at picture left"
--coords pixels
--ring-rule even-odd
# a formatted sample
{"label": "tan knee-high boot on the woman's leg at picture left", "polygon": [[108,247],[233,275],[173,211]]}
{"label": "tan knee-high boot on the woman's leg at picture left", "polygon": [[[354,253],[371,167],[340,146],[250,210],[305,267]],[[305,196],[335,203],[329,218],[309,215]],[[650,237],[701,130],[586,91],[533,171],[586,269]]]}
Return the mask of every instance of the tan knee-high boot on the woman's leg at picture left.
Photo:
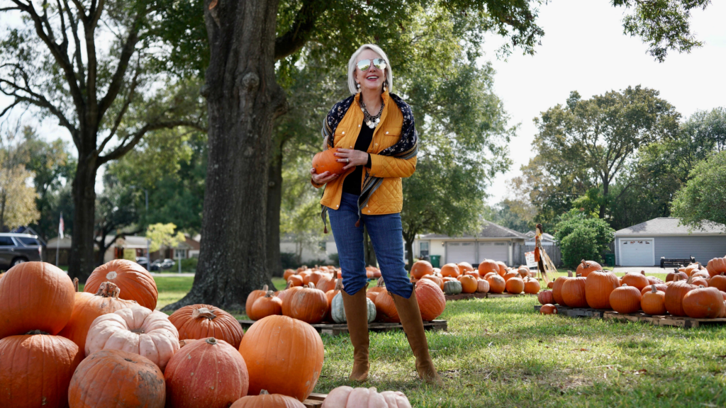
{"label": "tan knee-high boot on the woman's leg at picture left", "polygon": [[365,297],[365,287],[355,295],[348,295],[345,290],[340,290],[343,295],[343,308],[346,309],[346,322],[348,332],[351,334],[353,343],[353,372],[349,377],[354,381],[364,381],[368,378],[368,306]]}

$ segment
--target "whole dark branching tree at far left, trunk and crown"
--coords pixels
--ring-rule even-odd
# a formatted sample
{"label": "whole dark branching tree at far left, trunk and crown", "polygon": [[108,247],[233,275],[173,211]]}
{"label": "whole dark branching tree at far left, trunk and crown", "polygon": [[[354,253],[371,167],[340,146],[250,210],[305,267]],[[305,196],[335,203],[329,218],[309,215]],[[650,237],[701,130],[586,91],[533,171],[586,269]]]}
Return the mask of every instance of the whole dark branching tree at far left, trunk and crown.
{"label": "whole dark branching tree at far left, trunk and crown", "polygon": [[98,169],[147,131],[198,127],[198,93],[157,75],[150,47],[160,45],[161,20],[153,1],[1,0],[0,12],[19,23],[0,38],[0,92],[12,100],[0,116],[33,107],[57,120],[76,146],[69,274],[83,281],[94,269]]}

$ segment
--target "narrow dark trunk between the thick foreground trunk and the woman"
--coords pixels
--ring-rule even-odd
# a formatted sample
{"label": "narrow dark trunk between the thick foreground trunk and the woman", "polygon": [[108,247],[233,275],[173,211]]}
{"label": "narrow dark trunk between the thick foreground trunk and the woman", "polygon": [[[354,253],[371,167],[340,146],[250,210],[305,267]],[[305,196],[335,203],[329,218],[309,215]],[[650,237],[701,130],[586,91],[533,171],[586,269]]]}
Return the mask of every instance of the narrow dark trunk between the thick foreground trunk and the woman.
{"label": "narrow dark trunk between the thick foreground trunk and the woman", "polygon": [[282,206],[282,147],[270,160],[267,181],[267,264],[272,276],[282,276],[280,258],[280,207]]}

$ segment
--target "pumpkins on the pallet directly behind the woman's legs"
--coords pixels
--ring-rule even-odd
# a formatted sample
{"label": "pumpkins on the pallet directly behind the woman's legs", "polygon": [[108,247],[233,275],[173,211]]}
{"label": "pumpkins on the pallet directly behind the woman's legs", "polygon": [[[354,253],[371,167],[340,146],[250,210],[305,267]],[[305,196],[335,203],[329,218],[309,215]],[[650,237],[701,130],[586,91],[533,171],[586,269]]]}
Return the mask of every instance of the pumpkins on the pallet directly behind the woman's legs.
{"label": "pumpkins on the pallet directly behind the woman's legs", "polygon": [[[393,298],[386,289],[380,269],[367,267],[369,277],[378,277],[378,285],[367,290],[368,322],[401,322]],[[253,290],[245,302],[245,311],[251,320],[282,315],[315,325],[321,322],[346,322],[343,308],[343,279],[340,270],[332,266],[316,269],[285,271],[287,287],[273,292],[263,287]],[[421,319],[431,321],[444,313],[446,298],[439,285],[431,281],[418,282],[416,299]]]}

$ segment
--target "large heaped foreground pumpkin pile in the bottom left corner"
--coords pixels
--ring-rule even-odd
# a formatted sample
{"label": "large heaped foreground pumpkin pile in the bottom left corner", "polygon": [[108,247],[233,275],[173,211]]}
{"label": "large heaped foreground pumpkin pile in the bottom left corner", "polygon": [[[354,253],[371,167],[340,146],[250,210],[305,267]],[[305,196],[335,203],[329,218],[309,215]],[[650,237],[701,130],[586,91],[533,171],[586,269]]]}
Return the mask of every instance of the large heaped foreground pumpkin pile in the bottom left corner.
{"label": "large heaped foreground pumpkin pile in the bottom left corner", "polygon": [[83,290],[42,262],[3,274],[1,406],[299,408],[322,370],[305,322],[271,316],[245,334],[211,305],[167,316],[134,262],[99,266]]}

